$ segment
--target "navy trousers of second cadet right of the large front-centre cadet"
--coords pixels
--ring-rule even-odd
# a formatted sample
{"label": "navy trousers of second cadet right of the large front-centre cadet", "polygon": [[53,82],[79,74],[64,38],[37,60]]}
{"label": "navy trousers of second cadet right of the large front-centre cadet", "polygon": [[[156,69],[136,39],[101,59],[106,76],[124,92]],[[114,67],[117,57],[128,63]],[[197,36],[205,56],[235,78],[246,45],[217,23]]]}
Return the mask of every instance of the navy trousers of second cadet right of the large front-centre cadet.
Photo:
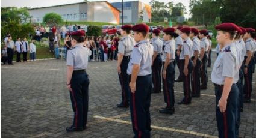
{"label": "navy trousers of second cadet right of the large front-centre cadet", "polygon": [[166,68],[166,79],[165,80],[163,79],[164,101],[167,104],[167,107],[169,108],[174,107],[174,103],[175,103],[174,80],[175,80],[175,65],[173,62],[171,62]]}

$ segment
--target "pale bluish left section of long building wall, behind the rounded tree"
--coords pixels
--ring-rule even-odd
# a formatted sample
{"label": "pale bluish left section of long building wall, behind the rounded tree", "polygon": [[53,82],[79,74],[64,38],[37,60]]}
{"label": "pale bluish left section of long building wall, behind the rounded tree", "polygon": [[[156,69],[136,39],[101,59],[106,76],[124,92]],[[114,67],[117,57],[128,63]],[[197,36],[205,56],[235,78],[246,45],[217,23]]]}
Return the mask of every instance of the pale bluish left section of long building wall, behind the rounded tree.
{"label": "pale bluish left section of long building wall, behind the rounded tree", "polygon": [[63,20],[78,21],[80,20],[80,7],[79,4],[63,5],[59,7],[46,7],[28,10],[33,17],[33,22],[43,22],[43,16],[47,13],[57,13],[63,18]]}

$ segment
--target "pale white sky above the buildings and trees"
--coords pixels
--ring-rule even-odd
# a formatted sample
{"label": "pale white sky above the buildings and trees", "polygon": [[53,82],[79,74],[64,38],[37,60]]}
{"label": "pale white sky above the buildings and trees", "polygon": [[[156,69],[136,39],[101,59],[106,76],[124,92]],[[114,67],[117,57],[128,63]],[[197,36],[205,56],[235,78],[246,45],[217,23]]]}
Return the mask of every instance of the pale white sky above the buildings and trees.
{"label": "pale white sky above the buildings and trees", "polygon": [[[89,1],[105,1],[105,0],[89,0]],[[122,0],[107,0],[108,2],[121,2]],[[123,0],[131,1],[131,0]],[[133,0],[132,0],[133,1]],[[151,0],[140,0],[145,4],[149,4]],[[187,13],[189,10],[189,0],[158,0],[159,2],[169,2],[173,1],[174,4],[181,2],[187,8]],[[53,5],[62,5],[62,4],[72,4],[76,2],[83,2],[83,0],[1,0],[1,7],[48,7]],[[186,18],[189,17],[189,14],[184,15]]]}

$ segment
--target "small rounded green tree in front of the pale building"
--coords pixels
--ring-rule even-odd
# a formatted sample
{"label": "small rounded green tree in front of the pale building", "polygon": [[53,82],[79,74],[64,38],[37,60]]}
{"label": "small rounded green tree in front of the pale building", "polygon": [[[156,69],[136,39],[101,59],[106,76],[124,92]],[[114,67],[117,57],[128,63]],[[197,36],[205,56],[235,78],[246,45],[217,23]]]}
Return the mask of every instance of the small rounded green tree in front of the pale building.
{"label": "small rounded green tree in front of the pale building", "polygon": [[55,24],[63,22],[63,19],[57,13],[48,13],[48,14],[45,14],[45,16],[43,16],[43,22],[50,24],[50,25],[55,25]]}

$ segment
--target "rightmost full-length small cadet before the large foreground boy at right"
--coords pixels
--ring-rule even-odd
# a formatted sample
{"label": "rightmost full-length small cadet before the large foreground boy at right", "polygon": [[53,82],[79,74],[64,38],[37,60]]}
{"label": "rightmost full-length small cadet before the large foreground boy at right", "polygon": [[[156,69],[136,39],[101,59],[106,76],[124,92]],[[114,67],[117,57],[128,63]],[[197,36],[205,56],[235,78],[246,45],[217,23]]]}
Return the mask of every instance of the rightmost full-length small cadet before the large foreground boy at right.
{"label": "rightmost full-length small cadet before the large foreground boy at right", "polygon": [[207,40],[207,29],[202,29],[200,32],[199,37],[201,38],[200,46],[201,46],[201,52],[200,52],[200,58],[202,61],[202,69],[201,69],[201,88],[200,89],[207,89],[207,82],[208,82],[208,76],[207,76],[207,66],[206,62],[208,61],[208,48],[209,48],[209,41]]}

